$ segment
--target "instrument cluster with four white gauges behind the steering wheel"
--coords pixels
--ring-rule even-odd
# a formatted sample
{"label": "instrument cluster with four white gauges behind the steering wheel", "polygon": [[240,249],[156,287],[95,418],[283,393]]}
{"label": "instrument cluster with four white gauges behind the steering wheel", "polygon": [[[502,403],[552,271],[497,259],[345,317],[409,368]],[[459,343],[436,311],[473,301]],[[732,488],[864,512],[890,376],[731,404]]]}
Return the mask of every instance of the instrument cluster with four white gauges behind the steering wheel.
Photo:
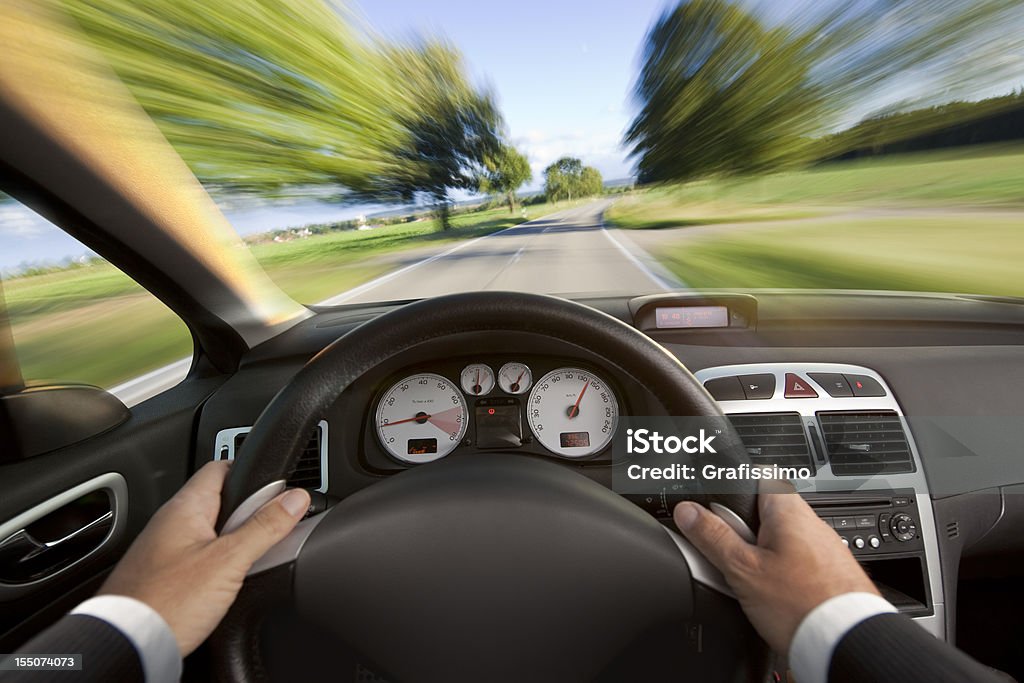
{"label": "instrument cluster with four white gauges behind the steering wheel", "polygon": [[602,372],[519,358],[403,373],[377,394],[371,412],[377,443],[406,465],[464,447],[591,459],[607,450],[618,415],[618,394]]}

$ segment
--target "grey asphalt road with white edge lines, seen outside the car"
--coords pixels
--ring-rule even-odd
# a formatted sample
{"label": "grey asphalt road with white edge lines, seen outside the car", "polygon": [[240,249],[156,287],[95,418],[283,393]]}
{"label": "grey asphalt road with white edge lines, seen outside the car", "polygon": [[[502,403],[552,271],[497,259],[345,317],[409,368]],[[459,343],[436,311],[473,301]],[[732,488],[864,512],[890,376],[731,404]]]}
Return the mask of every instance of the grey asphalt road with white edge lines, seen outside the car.
{"label": "grey asphalt road with white edge lines, seen outside the car", "polygon": [[[601,215],[610,202],[586,204],[454,247],[389,255],[391,268],[376,280],[319,302],[333,306],[419,299],[478,290],[572,296],[647,294],[682,287],[657,261]],[[180,360],[114,387],[132,405],[180,382]]]}

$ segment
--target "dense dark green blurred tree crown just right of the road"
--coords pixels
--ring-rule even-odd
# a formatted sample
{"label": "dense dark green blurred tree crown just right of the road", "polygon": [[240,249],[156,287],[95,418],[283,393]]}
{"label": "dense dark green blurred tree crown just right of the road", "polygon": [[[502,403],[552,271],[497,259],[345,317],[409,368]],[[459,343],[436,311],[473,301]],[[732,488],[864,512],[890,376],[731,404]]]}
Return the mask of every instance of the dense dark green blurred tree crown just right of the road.
{"label": "dense dark green blurred tree crown just right of the road", "polygon": [[757,171],[801,159],[821,96],[808,36],[767,30],[725,0],[667,11],[647,36],[627,131],[641,182]]}

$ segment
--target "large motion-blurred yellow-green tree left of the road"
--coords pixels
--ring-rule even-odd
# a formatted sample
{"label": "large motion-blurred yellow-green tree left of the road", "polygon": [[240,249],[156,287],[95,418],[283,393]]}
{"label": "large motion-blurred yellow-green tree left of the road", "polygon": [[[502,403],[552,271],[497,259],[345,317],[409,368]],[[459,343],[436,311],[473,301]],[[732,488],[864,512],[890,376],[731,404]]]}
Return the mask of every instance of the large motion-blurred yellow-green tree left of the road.
{"label": "large motion-blurred yellow-green tree left of the road", "polygon": [[[208,184],[356,199],[472,187],[500,116],[458,52],[389,44],[325,0],[46,0],[84,29]],[[318,190],[323,191],[323,190]]]}

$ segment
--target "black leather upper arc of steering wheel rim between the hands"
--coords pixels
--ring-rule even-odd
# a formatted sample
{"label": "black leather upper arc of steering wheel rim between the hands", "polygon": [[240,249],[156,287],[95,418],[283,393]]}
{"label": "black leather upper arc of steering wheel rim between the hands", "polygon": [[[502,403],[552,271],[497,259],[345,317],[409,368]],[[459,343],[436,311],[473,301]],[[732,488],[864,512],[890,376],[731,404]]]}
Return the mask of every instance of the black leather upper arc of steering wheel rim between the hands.
{"label": "black leather upper arc of steering wheel rim between the hands", "polygon": [[[221,493],[217,530],[254,494],[284,488],[310,431],[352,382],[419,344],[467,332],[508,331],[554,337],[588,349],[645,386],[674,416],[722,417],[721,409],[676,356],[622,321],[557,297],[520,292],[471,292],[424,299],[364,323],[313,356],[271,399],[246,437],[244,458]],[[727,421],[718,440],[722,464],[749,463]],[[753,480],[724,482],[708,497],[758,529]],[[722,493],[724,492],[724,493]],[[259,498],[255,502],[259,502]],[[258,507],[258,506],[257,506]],[[239,516],[236,516],[236,520]]]}

